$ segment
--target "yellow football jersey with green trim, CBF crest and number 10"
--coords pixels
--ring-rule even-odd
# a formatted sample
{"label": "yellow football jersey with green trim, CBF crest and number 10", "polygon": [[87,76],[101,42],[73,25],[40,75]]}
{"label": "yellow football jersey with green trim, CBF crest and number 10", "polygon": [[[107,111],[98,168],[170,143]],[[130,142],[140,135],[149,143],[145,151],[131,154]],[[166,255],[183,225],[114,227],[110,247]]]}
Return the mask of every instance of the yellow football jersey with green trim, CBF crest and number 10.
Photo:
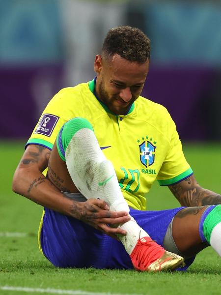
{"label": "yellow football jersey with green trim, CBF crest and number 10", "polygon": [[47,105],[27,145],[52,149],[66,121],[86,118],[114,166],[128,205],[144,210],[145,194],[156,179],[160,185],[170,185],[193,174],[176,126],[165,107],[142,96],[127,115],[116,116],[96,98],[94,90],[94,80],[61,89]]}

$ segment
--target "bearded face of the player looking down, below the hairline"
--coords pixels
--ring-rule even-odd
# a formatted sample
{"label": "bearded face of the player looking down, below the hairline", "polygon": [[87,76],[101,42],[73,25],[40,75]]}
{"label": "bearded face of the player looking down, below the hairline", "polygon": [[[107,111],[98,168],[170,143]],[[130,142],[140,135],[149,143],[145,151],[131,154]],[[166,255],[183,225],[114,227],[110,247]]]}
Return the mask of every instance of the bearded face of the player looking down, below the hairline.
{"label": "bearded face of the player looking down, below the hairline", "polygon": [[96,56],[96,93],[109,110],[125,115],[140,95],[149,70],[149,60],[138,63],[114,55],[112,58]]}

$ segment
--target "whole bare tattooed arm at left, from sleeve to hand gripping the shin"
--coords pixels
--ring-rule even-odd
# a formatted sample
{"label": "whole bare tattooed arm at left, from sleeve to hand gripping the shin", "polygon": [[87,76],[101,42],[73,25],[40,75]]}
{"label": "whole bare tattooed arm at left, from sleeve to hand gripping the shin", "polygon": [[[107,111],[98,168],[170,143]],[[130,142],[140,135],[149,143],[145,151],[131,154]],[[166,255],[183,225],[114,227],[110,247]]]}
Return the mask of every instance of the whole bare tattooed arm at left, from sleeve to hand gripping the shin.
{"label": "whole bare tattooed arm at left, from sleeve to hand gripping the shin", "polygon": [[103,200],[80,203],[69,199],[42,174],[48,166],[50,154],[48,148],[29,145],[15,171],[12,190],[44,207],[80,219],[109,236],[126,235],[125,231],[108,225],[128,221],[127,213],[110,211]]}

